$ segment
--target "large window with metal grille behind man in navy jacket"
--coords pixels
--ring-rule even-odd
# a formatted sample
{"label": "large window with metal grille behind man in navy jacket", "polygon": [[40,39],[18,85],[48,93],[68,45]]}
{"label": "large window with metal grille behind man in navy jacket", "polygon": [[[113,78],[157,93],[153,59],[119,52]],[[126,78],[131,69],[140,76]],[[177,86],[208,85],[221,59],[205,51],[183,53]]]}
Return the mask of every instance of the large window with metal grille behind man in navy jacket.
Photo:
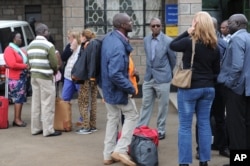
{"label": "large window with metal grille behind man in navy jacket", "polygon": [[112,30],[113,16],[126,12],[133,20],[131,38],[143,38],[149,32],[150,19],[158,17],[165,24],[164,0],[85,0],[85,28],[92,29],[97,35]]}

